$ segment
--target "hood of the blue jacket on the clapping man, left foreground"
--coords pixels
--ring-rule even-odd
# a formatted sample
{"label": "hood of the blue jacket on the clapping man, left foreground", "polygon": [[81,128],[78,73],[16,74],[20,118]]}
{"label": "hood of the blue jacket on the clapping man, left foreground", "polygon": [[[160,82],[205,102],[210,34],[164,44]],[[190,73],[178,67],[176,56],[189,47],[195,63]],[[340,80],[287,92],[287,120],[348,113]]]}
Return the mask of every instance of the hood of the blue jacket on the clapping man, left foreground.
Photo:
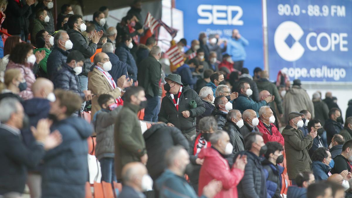
{"label": "hood of the blue jacket on the clapping man, left foreground", "polygon": [[68,124],[83,138],[88,138],[93,133],[93,127],[87,123],[86,120],[80,117],[68,117],[64,120],[60,120],[57,124]]}

